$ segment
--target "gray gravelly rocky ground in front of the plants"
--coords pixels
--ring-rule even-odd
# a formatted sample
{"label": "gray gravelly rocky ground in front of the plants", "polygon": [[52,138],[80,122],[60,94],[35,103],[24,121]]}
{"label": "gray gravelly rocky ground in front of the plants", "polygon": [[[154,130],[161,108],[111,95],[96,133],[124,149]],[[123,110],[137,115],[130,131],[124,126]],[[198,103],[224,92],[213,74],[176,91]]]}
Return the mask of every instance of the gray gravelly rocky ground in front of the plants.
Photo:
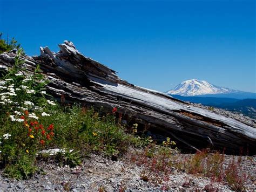
{"label": "gray gravelly rocky ground in front of the plants", "polygon": [[[178,154],[185,158],[191,154]],[[225,159],[233,158],[225,155]],[[247,174],[246,188],[256,190],[256,156],[242,157],[242,169]],[[131,163],[127,157],[112,161],[99,155],[91,155],[82,165],[69,168],[59,167],[55,163],[41,163],[43,172],[38,173],[30,180],[17,181],[0,176],[1,191],[25,190],[71,190],[71,191],[160,191],[164,186],[171,191],[204,190],[209,186],[214,189],[230,190],[226,183],[213,183],[206,177],[190,175],[173,167],[165,183],[156,184],[151,178],[142,180],[144,166]]]}

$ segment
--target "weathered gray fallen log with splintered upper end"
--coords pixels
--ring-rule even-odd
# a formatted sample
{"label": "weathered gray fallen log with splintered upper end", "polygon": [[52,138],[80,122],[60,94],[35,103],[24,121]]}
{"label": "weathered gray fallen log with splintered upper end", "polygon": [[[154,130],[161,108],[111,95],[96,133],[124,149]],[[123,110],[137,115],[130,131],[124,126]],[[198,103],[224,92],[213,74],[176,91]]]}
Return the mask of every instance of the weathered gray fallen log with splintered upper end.
{"label": "weathered gray fallen log with splintered upper end", "polygon": [[[48,91],[57,99],[79,102],[111,112],[117,107],[123,120],[137,122],[154,134],[169,136],[194,149],[211,146],[238,153],[241,148],[256,154],[256,128],[211,111],[194,107],[157,91],[120,79],[116,72],[85,57],[68,41],[54,53],[41,47],[41,56],[24,56],[24,66],[37,64],[51,80]],[[11,66],[14,52],[0,54],[0,65]]]}

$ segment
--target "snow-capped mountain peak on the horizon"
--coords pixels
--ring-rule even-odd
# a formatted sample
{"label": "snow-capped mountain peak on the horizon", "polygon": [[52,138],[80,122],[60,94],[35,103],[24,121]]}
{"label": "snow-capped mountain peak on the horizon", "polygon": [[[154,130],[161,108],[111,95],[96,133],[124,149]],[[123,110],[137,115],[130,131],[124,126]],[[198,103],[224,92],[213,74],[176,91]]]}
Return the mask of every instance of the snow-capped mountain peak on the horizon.
{"label": "snow-capped mountain peak on the horizon", "polygon": [[200,81],[197,79],[191,79],[183,81],[181,84],[167,91],[166,94],[182,95],[182,96],[196,96],[206,94],[228,94],[237,93],[237,90],[230,88],[218,87],[208,83],[207,81]]}

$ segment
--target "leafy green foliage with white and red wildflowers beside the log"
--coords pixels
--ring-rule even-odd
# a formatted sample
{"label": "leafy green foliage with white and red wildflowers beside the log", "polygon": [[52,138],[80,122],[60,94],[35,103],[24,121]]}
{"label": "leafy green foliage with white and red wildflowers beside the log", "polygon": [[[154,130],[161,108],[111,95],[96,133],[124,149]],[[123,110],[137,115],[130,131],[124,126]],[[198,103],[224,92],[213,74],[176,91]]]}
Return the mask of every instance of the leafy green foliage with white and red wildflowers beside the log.
{"label": "leafy green foliage with white and red wildflowers beside the log", "polygon": [[93,108],[60,106],[49,100],[45,92],[49,81],[39,66],[33,73],[26,71],[22,54],[19,49],[14,66],[0,71],[0,163],[5,175],[31,176],[38,158],[52,158],[38,154],[43,149],[67,149],[53,158],[74,167],[91,152],[117,156],[134,141],[138,147],[149,142],[127,134],[113,113],[99,116]]}

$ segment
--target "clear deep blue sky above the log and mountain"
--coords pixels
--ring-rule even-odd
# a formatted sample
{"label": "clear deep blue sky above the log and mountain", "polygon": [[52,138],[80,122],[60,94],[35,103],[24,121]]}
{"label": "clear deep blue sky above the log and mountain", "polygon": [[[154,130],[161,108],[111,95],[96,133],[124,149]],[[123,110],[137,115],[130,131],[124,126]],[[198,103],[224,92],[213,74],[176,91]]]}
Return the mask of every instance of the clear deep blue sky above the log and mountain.
{"label": "clear deep blue sky above the log and mountain", "polygon": [[0,0],[0,31],[30,55],[71,40],[138,86],[187,79],[256,92],[255,1]]}

